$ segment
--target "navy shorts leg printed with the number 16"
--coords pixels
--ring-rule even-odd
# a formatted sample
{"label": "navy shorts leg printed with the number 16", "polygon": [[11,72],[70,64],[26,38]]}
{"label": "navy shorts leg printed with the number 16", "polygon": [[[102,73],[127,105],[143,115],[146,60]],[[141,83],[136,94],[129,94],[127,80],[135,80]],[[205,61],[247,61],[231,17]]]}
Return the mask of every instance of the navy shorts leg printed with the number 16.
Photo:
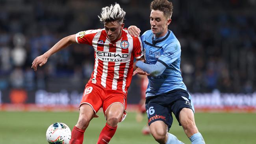
{"label": "navy shorts leg printed with the number 16", "polygon": [[168,126],[168,130],[170,129],[173,124],[173,116],[171,109],[164,104],[165,102],[162,102],[161,96],[146,99],[148,126],[153,122],[163,121]]}

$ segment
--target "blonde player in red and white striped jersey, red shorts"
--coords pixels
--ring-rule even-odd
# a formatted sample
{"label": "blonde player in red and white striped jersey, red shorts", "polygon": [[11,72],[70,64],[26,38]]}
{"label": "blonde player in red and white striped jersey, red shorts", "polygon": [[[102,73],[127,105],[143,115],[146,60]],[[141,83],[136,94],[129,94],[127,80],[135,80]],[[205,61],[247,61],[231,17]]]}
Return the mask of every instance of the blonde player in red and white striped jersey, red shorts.
{"label": "blonde player in red and white striped jersey, red shorts", "polygon": [[85,86],[80,113],[72,129],[70,144],[82,144],[83,133],[89,122],[98,117],[103,108],[106,126],[102,129],[97,144],[108,144],[115,134],[117,123],[126,116],[126,98],[133,74],[133,60],[144,59],[143,47],[138,37],[132,37],[124,28],[125,11],[119,4],[103,7],[100,22],[104,29],[87,30],[61,39],[45,54],[36,57],[32,68],[46,63],[50,55],[73,43],[89,44],[95,50],[95,64],[91,78]]}

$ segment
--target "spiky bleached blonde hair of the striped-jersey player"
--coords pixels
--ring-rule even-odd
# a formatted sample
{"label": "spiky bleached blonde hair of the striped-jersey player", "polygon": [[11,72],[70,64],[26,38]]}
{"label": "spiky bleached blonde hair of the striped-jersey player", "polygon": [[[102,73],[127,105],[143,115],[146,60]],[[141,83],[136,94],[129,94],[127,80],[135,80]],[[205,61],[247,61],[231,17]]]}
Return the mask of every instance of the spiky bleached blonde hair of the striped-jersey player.
{"label": "spiky bleached blonde hair of the striped-jersey player", "polygon": [[115,3],[113,6],[112,4],[109,7],[103,7],[101,9],[100,22],[113,22],[118,20],[120,24],[123,23],[125,16],[125,11],[122,10],[119,4]]}

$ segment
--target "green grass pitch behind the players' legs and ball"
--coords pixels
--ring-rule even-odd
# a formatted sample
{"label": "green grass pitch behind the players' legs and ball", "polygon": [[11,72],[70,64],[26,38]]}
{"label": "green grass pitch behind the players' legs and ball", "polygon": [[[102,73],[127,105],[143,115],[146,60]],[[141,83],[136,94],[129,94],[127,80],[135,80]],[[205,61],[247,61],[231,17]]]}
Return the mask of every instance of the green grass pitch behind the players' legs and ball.
{"label": "green grass pitch behind the players' legs and ball", "polygon": [[[96,144],[105,125],[104,115],[93,118],[85,131],[83,144]],[[0,112],[0,144],[47,144],[45,133],[50,124],[63,122],[70,129],[76,124],[77,112]],[[196,113],[196,124],[206,144],[256,144],[255,113]],[[135,113],[128,113],[109,144],[157,144],[151,135],[141,134],[146,124],[136,122]],[[174,118],[170,133],[185,144],[191,142]]]}

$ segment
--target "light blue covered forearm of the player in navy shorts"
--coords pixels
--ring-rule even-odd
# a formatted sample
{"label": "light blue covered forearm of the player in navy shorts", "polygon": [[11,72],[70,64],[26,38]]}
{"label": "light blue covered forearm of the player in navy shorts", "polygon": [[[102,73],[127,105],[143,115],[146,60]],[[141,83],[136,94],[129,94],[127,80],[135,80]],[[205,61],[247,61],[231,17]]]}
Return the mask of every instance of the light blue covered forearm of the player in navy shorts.
{"label": "light blue covered forearm of the player in navy shorts", "polygon": [[160,76],[163,73],[163,71],[166,69],[166,67],[160,62],[156,62],[156,64],[154,65],[148,65],[146,63],[143,63],[142,61],[138,61],[136,63],[136,66],[138,66],[139,68],[141,68],[142,70],[150,74],[151,76]]}

